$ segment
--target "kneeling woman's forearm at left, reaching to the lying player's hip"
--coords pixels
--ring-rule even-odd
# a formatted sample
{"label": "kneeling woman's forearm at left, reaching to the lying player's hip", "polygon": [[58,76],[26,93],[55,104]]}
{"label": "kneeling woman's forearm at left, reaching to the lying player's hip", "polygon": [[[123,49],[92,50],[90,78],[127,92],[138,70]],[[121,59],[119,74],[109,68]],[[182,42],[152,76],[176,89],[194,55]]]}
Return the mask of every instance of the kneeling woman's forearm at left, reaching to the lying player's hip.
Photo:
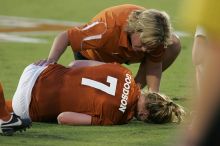
{"label": "kneeling woman's forearm at left, reaching to the lying player's hip", "polygon": [[68,46],[68,35],[67,32],[61,32],[53,42],[53,45],[50,50],[50,54],[48,56],[49,62],[57,62],[63,52],[66,50]]}

